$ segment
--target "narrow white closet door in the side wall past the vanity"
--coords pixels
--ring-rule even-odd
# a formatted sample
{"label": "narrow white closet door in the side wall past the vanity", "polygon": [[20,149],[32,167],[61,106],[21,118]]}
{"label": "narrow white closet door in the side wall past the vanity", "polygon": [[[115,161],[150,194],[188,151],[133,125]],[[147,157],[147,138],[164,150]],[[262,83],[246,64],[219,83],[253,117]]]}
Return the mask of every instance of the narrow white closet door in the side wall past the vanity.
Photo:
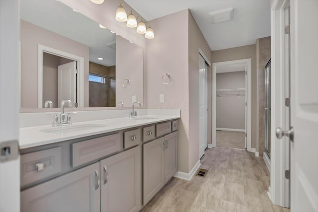
{"label": "narrow white closet door in the side wall past the vanity", "polygon": [[208,65],[200,55],[199,59],[199,157],[208,147]]}

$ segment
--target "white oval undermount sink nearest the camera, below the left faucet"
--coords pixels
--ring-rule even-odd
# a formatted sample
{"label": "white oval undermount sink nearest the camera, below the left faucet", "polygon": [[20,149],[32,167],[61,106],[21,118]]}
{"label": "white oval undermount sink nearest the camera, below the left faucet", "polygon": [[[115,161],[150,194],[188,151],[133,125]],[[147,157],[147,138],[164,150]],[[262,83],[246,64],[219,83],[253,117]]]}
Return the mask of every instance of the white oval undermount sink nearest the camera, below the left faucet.
{"label": "white oval undermount sink nearest the camera, below the left faucet", "polygon": [[61,126],[61,127],[52,127],[50,129],[41,130],[44,133],[72,133],[83,130],[93,130],[97,128],[103,128],[107,125],[97,125],[97,124],[84,124],[84,125],[71,125],[71,126]]}

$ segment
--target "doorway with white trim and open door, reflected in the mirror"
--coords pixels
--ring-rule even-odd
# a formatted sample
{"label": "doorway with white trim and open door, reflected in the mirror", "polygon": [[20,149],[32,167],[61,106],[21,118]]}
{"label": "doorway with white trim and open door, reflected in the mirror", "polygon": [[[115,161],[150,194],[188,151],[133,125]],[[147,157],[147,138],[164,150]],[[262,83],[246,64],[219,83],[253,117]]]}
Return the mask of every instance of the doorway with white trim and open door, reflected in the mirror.
{"label": "doorway with white trim and open door, reflected in the mirror", "polygon": [[[57,61],[56,83],[53,85],[46,71],[48,65],[52,65],[52,58]],[[46,60],[47,59],[47,60]],[[46,64],[49,61],[50,64]],[[52,70],[51,70],[52,71]],[[55,73],[56,74],[56,73]],[[50,75],[50,74],[49,74]],[[51,100],[52,89],[47,88],[48,82],[57,88],[58,96]],[[50,84],[49,83],[49,84]],[[48,92],[46,92],[46,90]],[[56,90],[54,88],[54,90]],[[66,92],[64,92],[66,91]],[[47,97],[47,94],[49,95]],[[60,107],[61,99],[70,99],[75,107],[84,106],[84,58],[72,55],[47,46],[38,46],[38,108],[43,108],[45,101],[52,101],[53,107]]]}

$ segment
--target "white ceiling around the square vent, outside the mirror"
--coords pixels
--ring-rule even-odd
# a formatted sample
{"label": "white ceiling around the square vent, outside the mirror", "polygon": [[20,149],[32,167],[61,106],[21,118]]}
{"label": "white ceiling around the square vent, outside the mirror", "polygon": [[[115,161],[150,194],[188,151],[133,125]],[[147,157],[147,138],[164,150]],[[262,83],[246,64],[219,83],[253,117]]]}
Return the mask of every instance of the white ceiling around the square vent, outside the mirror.
{"label": "white ceiling around the square vent, outside the mirror", "polygon": [[[270,0],[125,0],[146,20],[189,8],[211,50],[255,44],[270,36]],[[212,11],[234,7],[234,19],[212,24]],[[156,29],[154,29],[156,33]]]}

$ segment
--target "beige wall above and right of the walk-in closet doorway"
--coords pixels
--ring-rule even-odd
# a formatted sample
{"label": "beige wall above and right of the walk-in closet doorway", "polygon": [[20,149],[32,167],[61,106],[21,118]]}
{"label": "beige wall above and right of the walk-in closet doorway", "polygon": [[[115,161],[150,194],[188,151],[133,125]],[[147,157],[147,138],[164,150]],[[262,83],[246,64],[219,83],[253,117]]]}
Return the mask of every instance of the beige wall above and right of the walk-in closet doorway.
{"label": "beige wall above and right of the walk-in closet doorway", "polygon": [[256,73],[256,45],[247,45],[236,48],[212,51],[212,63],[252,59],[252,148],[256,148],[258,128],[257,123],[257,73]]}

